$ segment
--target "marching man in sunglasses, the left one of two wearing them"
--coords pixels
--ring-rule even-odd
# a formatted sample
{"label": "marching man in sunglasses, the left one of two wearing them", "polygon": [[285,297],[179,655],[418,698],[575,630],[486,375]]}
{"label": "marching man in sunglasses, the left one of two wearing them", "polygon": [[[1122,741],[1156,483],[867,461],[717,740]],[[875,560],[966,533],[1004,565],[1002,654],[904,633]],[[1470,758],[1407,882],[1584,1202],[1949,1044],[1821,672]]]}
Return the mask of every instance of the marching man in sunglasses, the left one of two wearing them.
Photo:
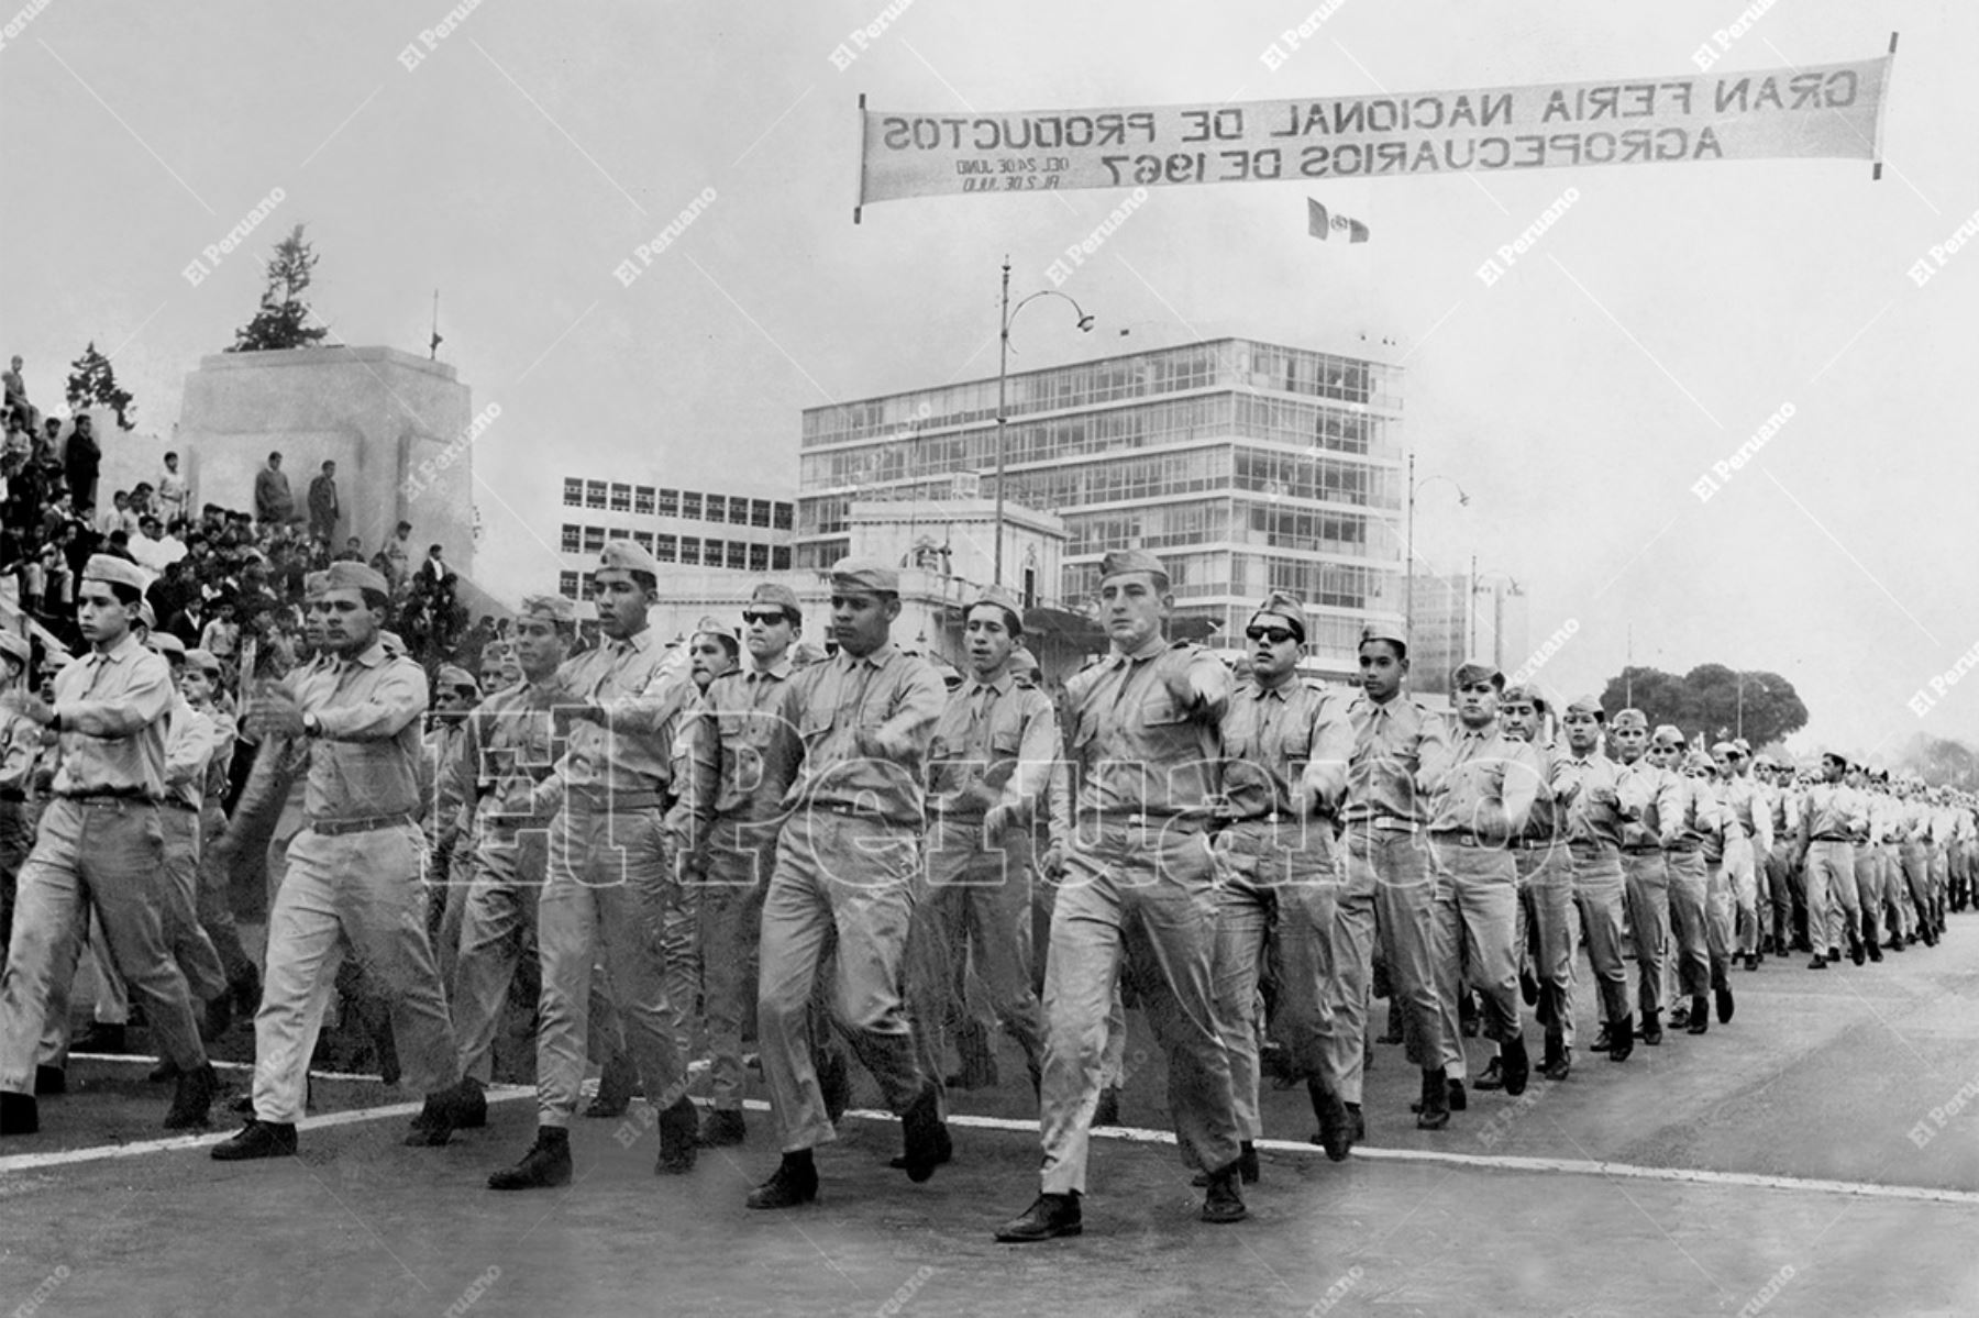
{"label": "marching man in sunglasses, the left one of two wearing them", "polygon": [[707,819],[701,867],[701,1009],[708,1049],[707,1146],[742,1144],[742,1025],[756,1013],[762,898],[776,869],[788,780],[772,772],[784,689],[803,610],[788,586],[762,582],[742,606],[748,665],[708,683],[703,716],[687,732],[697,744],[681,784],[693,815]]}

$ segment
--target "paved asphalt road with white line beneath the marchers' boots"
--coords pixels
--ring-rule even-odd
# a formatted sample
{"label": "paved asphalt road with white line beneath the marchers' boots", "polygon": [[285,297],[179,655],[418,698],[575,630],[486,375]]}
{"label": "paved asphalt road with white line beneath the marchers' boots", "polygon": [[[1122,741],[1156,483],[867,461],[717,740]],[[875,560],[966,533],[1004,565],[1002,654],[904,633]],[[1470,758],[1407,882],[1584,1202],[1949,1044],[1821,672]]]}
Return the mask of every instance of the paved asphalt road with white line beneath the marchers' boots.
{"label": "paved asphalt road with white line beneath the marchers' boots", "polygon": [[1195,1221],[1134,1019],[1130,1128],[1094,1146],[1086,1233],[1035,1247],[990,1239],[1035,1193],[1009,1051],[1011,1083],[956,1096],[932,1181],[885,1168],[896,1124],[849,1120],[819,1203],[790,1213],[742,1207],[776,1164],[762,1112],[683,1179],[653,1177],[637,1122],[580,1122],[568,1191],[497,1195],[522,1092],[406,1150],[408,1094],[327,1081],[299,1158],[216,1164],[218,1134],[160,1140],[142,1065],[79,1059],[44,1132],[0,1144],[0,1314],[1979,1314],[1979,916],[1882,966],[1769,960],[1734,984],[1730,1025],[1577,1057],[1441,1134],[1377,1047],[1369,1144],[1338,1166],[1306,1144],[1304,1094],[1271,1092],[1235,1227]]}

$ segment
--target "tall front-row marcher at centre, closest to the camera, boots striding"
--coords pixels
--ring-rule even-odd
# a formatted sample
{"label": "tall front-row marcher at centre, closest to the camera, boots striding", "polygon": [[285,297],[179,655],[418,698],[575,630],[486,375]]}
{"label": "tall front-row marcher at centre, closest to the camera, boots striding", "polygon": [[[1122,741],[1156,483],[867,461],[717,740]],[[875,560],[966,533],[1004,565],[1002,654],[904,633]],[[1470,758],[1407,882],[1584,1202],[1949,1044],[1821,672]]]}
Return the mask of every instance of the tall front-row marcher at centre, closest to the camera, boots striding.
{"label": "tall front-row marcher at centre, closest to the camera, boots striding", "polygon": [[1217,728],[1229,671],[1164,635],[1176,598],[1146,550],[1100,560],[1100,617],[1112,655],[1067,689],[1073,801],[1053,794],[1047,881],[1065,883],[1045,960],[1041,1193],[997,1229],[1007,1243],[1083,1231],[1086,1152],[1100,1096],[1114,986],[1126,974],[1168,1053],[1181,1160],[1209,1174],[1203,1221],[1247,1215],[1231,1067],[1213,1007],[1215,865],[1207,829],[1219,790]]}

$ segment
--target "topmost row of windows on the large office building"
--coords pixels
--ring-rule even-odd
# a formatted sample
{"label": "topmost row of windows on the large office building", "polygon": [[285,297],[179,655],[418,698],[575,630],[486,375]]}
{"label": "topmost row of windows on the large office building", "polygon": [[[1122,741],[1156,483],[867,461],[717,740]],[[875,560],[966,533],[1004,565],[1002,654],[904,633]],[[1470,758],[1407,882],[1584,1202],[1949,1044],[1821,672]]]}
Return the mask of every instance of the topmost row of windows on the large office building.
{"label": "topmost row of windows on the large office building", "polygon": [[[1397,380],[1399,372],[1379,362],[1233,338],[1011,376],[1003,414],[1065,412],[1211,386],[1399,410]],[[995,380],[813,408],[803,414],[801,447],[995,420]]]}

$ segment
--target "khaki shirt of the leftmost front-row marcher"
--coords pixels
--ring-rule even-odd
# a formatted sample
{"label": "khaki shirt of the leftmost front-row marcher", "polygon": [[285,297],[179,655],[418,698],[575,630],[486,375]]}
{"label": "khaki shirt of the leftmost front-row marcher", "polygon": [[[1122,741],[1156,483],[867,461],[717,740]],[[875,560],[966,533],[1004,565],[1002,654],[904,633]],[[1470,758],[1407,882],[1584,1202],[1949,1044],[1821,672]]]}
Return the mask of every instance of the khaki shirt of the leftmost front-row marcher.
{"label": "khaki shirt of the leftmost front-row marcher", "polygon": [[55,675],[61,768],[55,796],[164,796],[172,669],[164,655],[125,635],[109,653],[89,651]]}

